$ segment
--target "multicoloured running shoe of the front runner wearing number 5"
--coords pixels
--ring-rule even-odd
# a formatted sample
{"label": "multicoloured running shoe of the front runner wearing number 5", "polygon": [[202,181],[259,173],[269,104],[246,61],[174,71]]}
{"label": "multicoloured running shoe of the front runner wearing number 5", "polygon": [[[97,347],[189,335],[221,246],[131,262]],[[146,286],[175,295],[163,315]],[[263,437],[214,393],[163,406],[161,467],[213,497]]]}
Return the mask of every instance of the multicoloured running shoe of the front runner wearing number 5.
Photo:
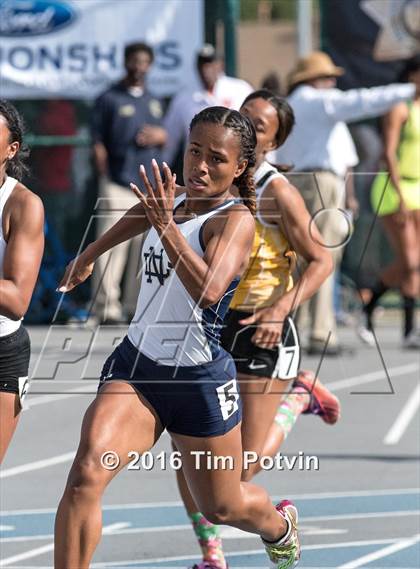
{"label": "multicoloured running shoe of the front runner wearing number 5", "polygon": [[262,540],[265,551],[272,562],[272,567],[276,569],[288,569],[295,567],[300,559],[300,543],[297,531],[298,513],[296,506],[283,500],[277,504],[276,510],[278,513],[289,522],[288,536],[285,541],[280,540],[280,543],[267,543]]}

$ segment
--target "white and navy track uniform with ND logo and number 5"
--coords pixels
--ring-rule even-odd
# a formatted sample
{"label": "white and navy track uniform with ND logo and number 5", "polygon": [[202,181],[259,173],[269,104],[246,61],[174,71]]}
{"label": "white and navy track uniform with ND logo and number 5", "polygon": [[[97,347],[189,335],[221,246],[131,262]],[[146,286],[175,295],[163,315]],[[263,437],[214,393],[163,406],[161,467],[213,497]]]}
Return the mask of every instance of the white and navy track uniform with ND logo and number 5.
{"label": "white and navy track uniform with ND logo and number 5", "polygon": [[[185,195],[175,201],[182,205]],[[230,200],[183,223],[179,230],[201,257],[205,222]],[[101,382],[125,380],[149,401],[169,431],[221,435],[241,420],[236,369],[219,344],[223,320],[239,279],[202,309],[179,279],[152,228],[142,250],[143,273],[128,335],[105,362]]]}

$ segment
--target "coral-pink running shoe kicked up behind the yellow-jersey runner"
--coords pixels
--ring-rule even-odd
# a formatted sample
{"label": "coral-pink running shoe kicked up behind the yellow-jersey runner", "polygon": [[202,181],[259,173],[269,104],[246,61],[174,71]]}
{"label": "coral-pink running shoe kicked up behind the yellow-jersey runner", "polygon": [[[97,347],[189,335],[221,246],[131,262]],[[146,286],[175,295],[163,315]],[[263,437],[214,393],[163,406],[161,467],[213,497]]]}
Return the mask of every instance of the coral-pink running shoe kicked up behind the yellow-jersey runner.
{"label": "coral-pink running shoe kicked up behind the yellow-jersey runner", "polygon": [[328,425],[334,425],[340,418],[340,401],[331,393],[312,371],[299,371],[293,387],[303,387],[311,399],[303,413],[319,415]]}

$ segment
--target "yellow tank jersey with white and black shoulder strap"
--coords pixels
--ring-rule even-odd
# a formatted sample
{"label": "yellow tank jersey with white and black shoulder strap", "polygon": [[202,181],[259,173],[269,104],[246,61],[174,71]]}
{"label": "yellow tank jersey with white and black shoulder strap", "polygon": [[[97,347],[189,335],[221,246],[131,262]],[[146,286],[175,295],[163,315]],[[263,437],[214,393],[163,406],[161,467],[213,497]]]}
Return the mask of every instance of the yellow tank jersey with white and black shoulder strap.
{"label": "yellow tank jersey with white and black shoulder strap", "polygon": [[276,178],[286,178],[264,161],[254,174],[257,194],[255,238],[249,265],[236,289],[230,308],[253,312],[271,306],[293,287],[293,257],[290,244],[279,225],[265,222],[261,216],[261,198],[265,188]]}

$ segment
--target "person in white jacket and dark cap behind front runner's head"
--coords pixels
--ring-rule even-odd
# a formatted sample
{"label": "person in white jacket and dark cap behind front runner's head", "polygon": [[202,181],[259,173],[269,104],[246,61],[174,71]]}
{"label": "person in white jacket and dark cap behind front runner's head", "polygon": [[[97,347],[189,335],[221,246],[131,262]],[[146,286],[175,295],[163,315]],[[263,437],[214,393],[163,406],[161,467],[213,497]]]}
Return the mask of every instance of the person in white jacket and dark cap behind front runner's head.
{"label": "person in white jacket and dark cap behind front runner's head", "polygon": [[165,116],[168,133],[163,158],[171,166],[180,147],[188,140],[193,116],[212,105],[239,110],[243,100],[254,90],[249,83],[223,72],[222,58],[210,44],[204,44],[196,59],[199,84],[176,95]]}

